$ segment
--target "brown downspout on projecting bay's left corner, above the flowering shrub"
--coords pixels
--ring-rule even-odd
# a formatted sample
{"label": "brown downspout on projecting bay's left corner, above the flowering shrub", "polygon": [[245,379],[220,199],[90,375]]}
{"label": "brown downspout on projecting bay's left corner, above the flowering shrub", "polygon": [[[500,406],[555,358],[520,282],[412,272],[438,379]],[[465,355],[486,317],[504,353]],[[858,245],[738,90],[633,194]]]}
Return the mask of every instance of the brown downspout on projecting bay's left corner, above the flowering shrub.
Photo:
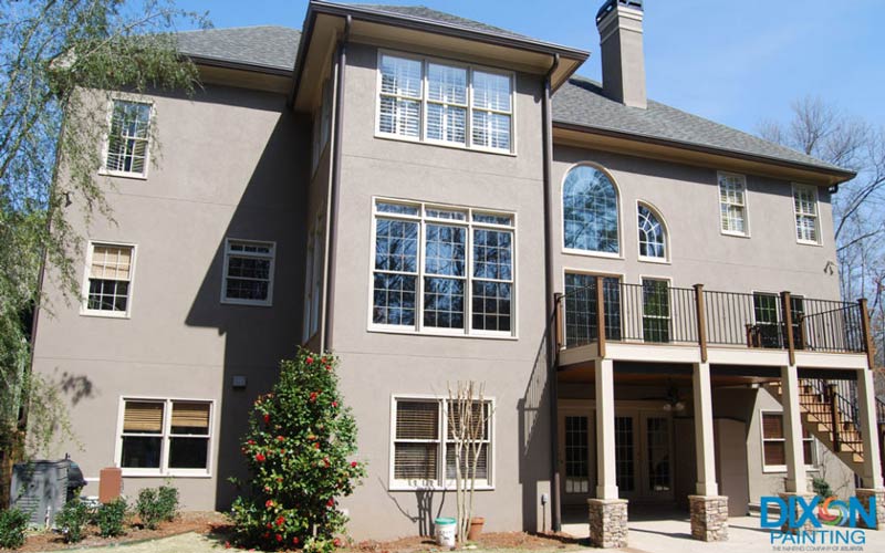
{"label": "brown downspout on projecting bay's left corner, above the flowering shrub", "polygon": [[344,74],[347,65],[347,41],[351,38],[353,20],[347,15],[344,20],[344,33],[339,45],[339,70],[335,82],[335,122],[333,125],[334,139],[332,140],[332,182],[329,186],[325,212],[325,275],[323,278],[323,293],[325,306],[323,310],[323,332],[320,335],[320,352],[332,348],[332,312],[335,307],[335,292],[332,284],[335,282],[335,252],[337,251],[339,188],[341,187],[341,122],[344,118]]}

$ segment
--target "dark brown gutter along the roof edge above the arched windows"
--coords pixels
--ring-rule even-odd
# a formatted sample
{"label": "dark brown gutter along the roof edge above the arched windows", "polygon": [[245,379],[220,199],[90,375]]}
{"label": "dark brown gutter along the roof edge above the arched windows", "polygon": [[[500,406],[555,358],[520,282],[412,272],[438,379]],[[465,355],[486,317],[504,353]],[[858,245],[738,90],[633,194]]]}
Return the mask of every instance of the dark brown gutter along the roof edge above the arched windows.
{"label": "dark brown gutter along the roof edge above the arched windows", "polygon": [[848,181],[848,180],[851,180],[851,179],[853,179],[854,177],[857,176],[857,174],[855,171],[847,170],[847,169],[840,169],[840,168],[836,168],[836,167],[822,167],[822,166],[818,166],[818,165],[803,164],[803,163],[800,163],[800,161],[789,161],[789,160],[781,159],[781,158],[778,158],[778,157],[764,156],[764,155],[760,155],[760,154],[748,154],[746,152],[737,152],[737,150],[733,150],[733,149],[717,148],[717,147],[712,147],[712,146],[704,146],[704,145],[700,145],[700,144],[695,144],[695,143],[685,142],[685,140],[678,140],[678,139],[675,139],[675,138],[660,138],[658,136],[649,136],[649,135],[635,134],[635,133],[625,133],[625,132],[622,132],[622,131],[614,131],[614,129],[611,129],[611,128],[594,127],[594,126],[591,126],[591,125],[579,125],[576,123],[566,123],[566,122],[562,122],[562,121],[554,121],[553,122],[553,126],[556,127],[556,128],[565,129],[565,131],[575,131],[575,132],[579,132],[579,133],[587,133],[587,134],[593,134],[593,135],[598,135],[598,136],[606,136],[606,137],[611,137],[611,138],[621,138],[621,139],[624,139],[624,140],[639,142],[639,143],[644,143],[644,144],[654,144],[654,145],[657,145],[657,146],[669,146],[669,147],[675,147],[675,148],[697,152],[697,153],[700,153],[700,154],[710,154],[710,155],[716,155],[716,156],[732,157],[732,158],[742,159],[742,160],[746,160],[746,161],[756,161],[756,163],[762,163],[762,164],[767,164],[767,165],[777,165],[779,167],[785,167],[785,168],[789,168],[789,169],[799,169],[799,170],[805,170],[805,171],[820,173],[820,174],[824,174],[824,175],[829,175],[831,177],[834,177],[835,178],[835,182],[834,184],[845,182],[845,181]]}

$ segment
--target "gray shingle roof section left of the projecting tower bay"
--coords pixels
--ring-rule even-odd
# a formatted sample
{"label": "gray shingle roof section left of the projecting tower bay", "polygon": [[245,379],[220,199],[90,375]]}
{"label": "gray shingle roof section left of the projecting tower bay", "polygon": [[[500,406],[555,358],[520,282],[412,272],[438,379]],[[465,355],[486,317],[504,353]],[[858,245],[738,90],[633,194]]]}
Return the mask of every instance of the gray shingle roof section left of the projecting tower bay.
{"label": "gray shingle roof section left of the projecting tower bay", "polygon": [[176,36],[184,54],[292,71],[301,31],[261,25],[185,31]]}

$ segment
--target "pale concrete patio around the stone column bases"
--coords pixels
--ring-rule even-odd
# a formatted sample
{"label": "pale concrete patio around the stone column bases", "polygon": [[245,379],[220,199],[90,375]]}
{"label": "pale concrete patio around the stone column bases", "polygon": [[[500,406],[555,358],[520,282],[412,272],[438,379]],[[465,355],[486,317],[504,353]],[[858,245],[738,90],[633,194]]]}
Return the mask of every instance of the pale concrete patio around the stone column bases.
{"label": "pale concrete patio around the stone column bases", "polygon": [[[727,542],[705,543],[694,540],[689,528],[688,513],[671,508],[641,508],[629,513],[627,547],[613,551],[631,553],[720,553],[725,551],[772,552],[772,551],[885,551],[885,531],[864,531],[863,545],[796,545],[790,543],[771,544],[768,530],[760,528],[759,517],[732,517],[728,519]],[[569,509],[563,513],[562,531],[577,538],[589,538],[590,525],[581,520],[581,512]],[[586,519],[586,517],[583,517]]]}

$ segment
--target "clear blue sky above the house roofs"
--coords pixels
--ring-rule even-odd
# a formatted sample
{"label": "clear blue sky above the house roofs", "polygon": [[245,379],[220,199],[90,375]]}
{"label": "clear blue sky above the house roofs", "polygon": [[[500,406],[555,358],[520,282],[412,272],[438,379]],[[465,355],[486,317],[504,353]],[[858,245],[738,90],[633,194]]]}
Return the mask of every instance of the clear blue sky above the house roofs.
{"label": "clear blue sky above the house roofs", "polygon": [[[603,0],[374,0],[427,6],[590,51],[579,74],[601,80],[595,14]],[[368,3],[368,2],[367,2]],[[306,0],[178,0],[216,28],[300,29]],[[885,1],[646,0],[648,97],[753,133],[819,96],[885,127]]]}

